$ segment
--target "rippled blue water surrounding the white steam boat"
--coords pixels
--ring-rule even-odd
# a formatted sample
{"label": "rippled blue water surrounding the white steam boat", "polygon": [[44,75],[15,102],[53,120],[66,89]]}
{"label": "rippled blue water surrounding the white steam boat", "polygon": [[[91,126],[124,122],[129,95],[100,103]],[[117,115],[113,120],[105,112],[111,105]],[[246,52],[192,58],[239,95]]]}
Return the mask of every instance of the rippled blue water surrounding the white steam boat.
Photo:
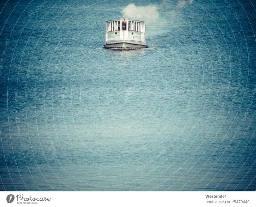
{"label": "rippled blue water surrounding the white steam boat", "polygon": [[[149,47],[104,49],[129,3]],[[1,1],[0,190],[256,189],[256,5],[176,3]]]}

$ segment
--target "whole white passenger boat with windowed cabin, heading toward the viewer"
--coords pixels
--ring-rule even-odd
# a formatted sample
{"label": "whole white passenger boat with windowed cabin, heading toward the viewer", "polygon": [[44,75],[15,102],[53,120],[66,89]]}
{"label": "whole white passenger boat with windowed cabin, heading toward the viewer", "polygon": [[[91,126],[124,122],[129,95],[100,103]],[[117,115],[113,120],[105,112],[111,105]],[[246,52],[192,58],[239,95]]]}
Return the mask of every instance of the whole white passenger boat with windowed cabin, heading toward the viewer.
{"label": "whole white passenger boat with windowed cabin, heading toward the viewer", "polygon": [[104,48],[146,48],[145,22],[120,18],[106,21]]}

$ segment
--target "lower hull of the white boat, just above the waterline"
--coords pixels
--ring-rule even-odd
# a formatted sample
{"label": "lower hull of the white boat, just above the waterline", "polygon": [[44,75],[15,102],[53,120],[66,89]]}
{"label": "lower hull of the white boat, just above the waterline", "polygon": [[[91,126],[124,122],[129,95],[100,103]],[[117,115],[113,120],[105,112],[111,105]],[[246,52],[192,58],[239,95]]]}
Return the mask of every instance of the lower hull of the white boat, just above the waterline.
{"label": "lower hull of the white boat, just above the waterline", "polygon": [[103,44],[104,48],[146,48],[148,45],[140,41],[107,41]]}

